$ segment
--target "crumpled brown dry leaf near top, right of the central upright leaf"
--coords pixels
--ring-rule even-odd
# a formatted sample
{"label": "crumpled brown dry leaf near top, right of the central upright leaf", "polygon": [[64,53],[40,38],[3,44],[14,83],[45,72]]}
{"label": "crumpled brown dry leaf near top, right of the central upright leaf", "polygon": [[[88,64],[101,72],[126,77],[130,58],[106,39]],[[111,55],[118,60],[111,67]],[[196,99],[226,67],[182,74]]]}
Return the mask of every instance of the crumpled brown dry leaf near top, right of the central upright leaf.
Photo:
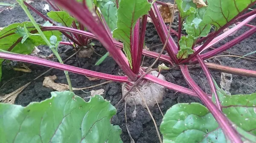
{"label": "crumpled brown dry leaf near top, right of the central upright leaf", "polygon": [[[171,3],[166,3],[166,4],[167,4],[168,6],[161,5],[158,9],[159,9],[160,14],[161,14],[161,16],[162,16],[162,18],[163,18],[163,21],[164,21],[165,23],[173,22],[174,16],[172,16],[172,15],[173,15],[172,11],[173,11],[174,5],[171,4]],[[174,14],[175,14],[175,12],[178,11],[178,8],[177,8],[176,5],[175,5],[174,8],[175,8],[175,9],[174,9]]]}

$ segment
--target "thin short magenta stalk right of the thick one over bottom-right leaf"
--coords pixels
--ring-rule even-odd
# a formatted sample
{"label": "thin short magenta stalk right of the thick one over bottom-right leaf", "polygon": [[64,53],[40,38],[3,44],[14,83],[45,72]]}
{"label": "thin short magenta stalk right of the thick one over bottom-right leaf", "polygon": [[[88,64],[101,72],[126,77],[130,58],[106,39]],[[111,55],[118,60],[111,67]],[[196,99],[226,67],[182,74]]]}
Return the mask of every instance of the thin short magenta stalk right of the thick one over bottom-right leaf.
{"label": "thin short magenta stalk right of the thick one over bottom-right leaf", "polygon": [[197,55],[196,58],[198,59],[199,64],[201,65],[202,69],[204,70],[204,74],[205,74],[206,78],[208,79],[208,82],[209,82],[210,87],[212,89],[212,93],[215,95],[215,100],[216,100],[217,107],[221,111],[221,104],[220,104],[220,100],[218,98],[218,94],[216,92],[216,87],[215,87],[214,82],[212,80],[212,75],[211,75],[209,69],[204,64],[204,61],[201,59],[201,57],[199,55]]}

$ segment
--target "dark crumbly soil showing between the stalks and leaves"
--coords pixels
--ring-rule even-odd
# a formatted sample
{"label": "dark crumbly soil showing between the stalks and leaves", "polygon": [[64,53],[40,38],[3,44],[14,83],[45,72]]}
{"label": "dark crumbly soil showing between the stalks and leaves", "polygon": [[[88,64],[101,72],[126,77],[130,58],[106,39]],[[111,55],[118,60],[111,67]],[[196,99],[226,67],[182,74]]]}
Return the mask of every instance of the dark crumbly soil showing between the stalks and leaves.
{"label": "dark crumbly soil showing between the stalks and leaves", "polygon": [[[163,0],[168,1],[168,0]],[[9,2],[9,0],[8,0]],[[11,1],[13,2],[13,0]],[[34,6],[36,9],[38,9],[43,14],[46,14],[47,11],[43,10],[43,6],[46,4],[45,2],[38,1],[35,3],[32,3],[32,6]],[[31,11],[32,12],[32,11]],[[32,15],[35,17],[35,20],[43,24],[45,21],[32,12]],[[16,6],[12,10],[4,10],[0,13],[0,27],[5,27],[9,24],[15,23],[15,22],[23,22],[23,21],[29,21],[29,19],[26,17],[26,14],[23,12],[22,8],[19,6]],[[256,20],[253,20],[251,24],[255,25]],[[177,18],[175,19],[173,28],[177,28]],[[249,28],[244,27],[241,28],[235,35],[230,36],[223,41],[221,41],[218,45],[215,45],[215,47],[221,46],[225,44],[226,42],[230,41],[231,39],[235,38],[236,36],[241,35],[244,33],[244,31],[247,31]],[[176,39],[175,36],[173,36],[174,39]],[[228,52],[237,53],[237,54],[246,54],[249,52],[252,52],[256,47],[255,42],[256,34],[253,36],[250,36],[250,38],[244,40],[240,44],[234,46]],[[101,55],[104,55],[106,53],[105,48],[102,47],[102,45],[94,41],[95,43],[95,51]],[[145,37],[145,43],[148,48],[161,44],[160,38],[157,35],[157,31],[155,31],[154,25],[152,23],[147,24],[147,30],[146,30],[146,37]],[[51,54],[50,50],[45,46],[39,46],[38,47],[41,52],[40,55],[49,55]],[[151,51],[160,52],[162,48],[162,45],[150,48]],[[74,53],[71,47],[69,46],[60,46],[58,49],[58,52],[61,54],[62,59],[67,59],[70,55]],[[256,56],[255,54],[252,56]],[[111,58],[108,57],[100,66],[94,66],[96,61],[100,58],[100,56],[96,55],[95,53],[90,58],[79,58],[76,56],[73,56],[71,59],[69,59],[66,64],[73,65],[76,67],[81,67],[88,70],[94,70],[99,71],[102,73],[109,73],[113,75],[120,75],[122,74],[122,71],[116,64],[116,62]],[[219,57],[215,60],[208,60],[208,62],[216,62],[221,63],[222,65],[227,65],[231,67],[239,67],[249,70],[256,70],[256,62],[239,59],[237,61],[234,61],[236,58],[233,57]],[[57,61],[55,58],[50,59],[52,61]],[[145,57],[143,66],[149,66],[154,62],[154,59]],[[158,62],[160,64],[162,62]],[[39,76],[41,73],[44,73],[46,70],[48,70],[48,67],[43,67],[35,64],[26,64],[28,67],[32,70],[31,73],[23,73],[20,71],[14,71],[12,70],[13,67],[19,67],[21,65],[20,62],[4,62],[3,63],[3,77],[2,81],[0,83],[0,95],[5,95],[8,93],[11,93],[24,84],[28,83],[29,81],[32,81],[37,76]],[[188,87],[188,84],[186,84],[186,81],[183,79],[180,70],[169,70],[169,71],[162,71],[161,72],[167,79],[167,81],[178,84],[183,87]],[[197,84],[203,89],[206,90],[207,93],[210,94],[210,88],[207,83],[207,79],[204,76],[204,73],[201,69],[191,69],[190,70],[191,76]],[[214,77],[215,81],[217,83],[220,83],[220,75],[221,73],[218,71],[211,71],[212,76]],[[89,81],[85,76],[78,75],[74,73],[69,73],[70,79],[72,82],[73,87],[89,87],[92,85],[96,85],[102,82],[105,82],[106,80],[99,80],[99,81]],[[65,79],[65,75],[63,71],[53,69],[50,72],[46,73],[44,76],[52,76],[56,75],[58,79],[56,80],[57,83],[65,83],[67,84],[67,81]],[[21,92],[16,100],[15,104],[19,104],[22,106],[28,105],[32,101],[42,101],[44,99],[47,99],[50,97],[50,92],[54,91],[52,89],[49,89],[47,87],[44,87],[42,85],[44,76],[32,81],[32,83],[26,87],[23,92]],[[4,84],[4,85],[3,85]],[[249,94],[256,92],[256,81],[255,78],[245,77],[245,76],[238,76],[233,75],[233,82],[231,84],[231,94]],[[122,93],[121,93],[121,83],[108,83],[99,87],[92,88],[90,90],[99,90],[104,89],[105,93],[102,95],[106,100],[111,101],[111,104],[114,106],[117,104],[117,102],[121,99]],[[86,91],[90,91],[86,90]],[[174,104],[177,103],[191,103],[191,102],[199,102],[201,103],[200,99],[185,95],[182,93],[175,93],[173,90],[166,89],[166,94],[163,98],[163,103],[160,103],[160,109],[163,112],[163,114],[166,112],[167,109],[172,107]],[[86,98],[90,96],[90,93],[84,93],[83,91],[75,91],[76,95],[81,96],[82,98]],[[201,103],[202,104],[202,103]],[[137,114],[134,116],[132,113],[136,110]],[[157,123],[157,126],[160,126],[160,123],[162,121],[162,115],[160,113],[159,108],[157,105],[150,108],[152,115],[154,116],[154,119]],[[157,132],[154,127],[154,123],[151,120],[148,111],[143,108],[142,106],[136,106],[136,107],[127,107],[127,120],[128,120],[128,128],[131,132],[131,136],[135,140],[135,143],[159,143]],[[124,143],[130,143],[130,138],[128,136],[127,129],[125,127],[125,110],[124,110],[124,103],[122,103],[118,109],[116,115],[112,118],[112,123],[115,125],[119,125],[122,129],[122,140]]]}

